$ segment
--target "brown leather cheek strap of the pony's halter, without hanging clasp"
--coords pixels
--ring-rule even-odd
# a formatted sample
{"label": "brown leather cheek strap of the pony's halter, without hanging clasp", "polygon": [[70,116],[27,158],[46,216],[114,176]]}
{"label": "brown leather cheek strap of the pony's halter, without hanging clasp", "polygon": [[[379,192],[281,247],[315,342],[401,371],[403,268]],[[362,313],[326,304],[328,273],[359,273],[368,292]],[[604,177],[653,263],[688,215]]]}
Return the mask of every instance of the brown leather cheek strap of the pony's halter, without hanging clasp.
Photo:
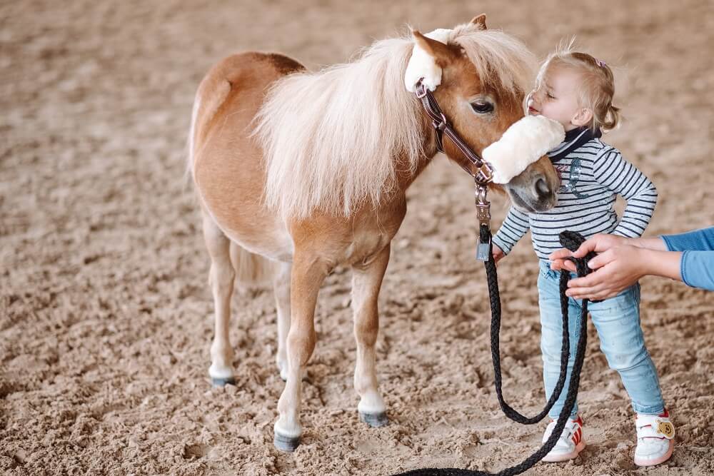
{"label": "brown leather cheek strap of the pony's halter, without hanging clasp", "polygon": [[421,104],[424,106],[424,111],[426,115],[431,118],[431,126],[433,126],[434,131],[436,131],[436,148],[439,152],[444,152],[443,148],[443,134],[446,134],[448,138],[454,143],[458,150],[463,153],[463,155],[476,166],[476,173],[473,173],[468,168],[462,165],[462,168],[471,175],[477,183],[486,184],[493,180],[493,166],[486,162],[478,155],[478,153],[471,150],[471,148],[463,141],[461,136],[458,135],[456,131],[453,130],[451,124],[447,121],[446,116],[436,102],[436,98],[431,93],[431,91],[423,85],[421,80],[416,84],[416,97],[421,99]]}

